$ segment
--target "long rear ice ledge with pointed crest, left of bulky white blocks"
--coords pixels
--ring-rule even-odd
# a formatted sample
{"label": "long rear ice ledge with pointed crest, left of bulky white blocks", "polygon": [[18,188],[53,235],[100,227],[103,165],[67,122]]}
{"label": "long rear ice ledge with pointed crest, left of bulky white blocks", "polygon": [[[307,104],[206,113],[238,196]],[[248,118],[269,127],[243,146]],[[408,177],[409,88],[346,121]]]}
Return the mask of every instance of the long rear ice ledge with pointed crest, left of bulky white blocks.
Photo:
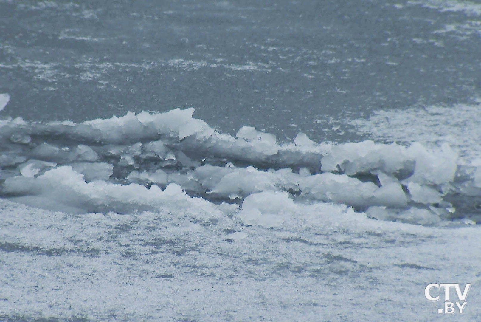
{"label": "long rear ice ledge with pointed crest, left of bulky white blocks", "polygon": [[[129,163],[137,156],[146,158],[150,154],[155,157],[168,152],[164,146],[188,151],[190,155],[207,155],[253,164],[319,166],[318,155],[323,145],[312,147],[305,144],[302,138],[298,140],[302,143],[297,145],[278,145],[275,135],[258,132],[251,127],[243,127],[237,133],[238,137],[234,138],[218,133],[203,120],[192,118],[193,112],[193,108],[159,114],[141,112],[135,115],[128,112],[122,117],[96,119],[81,124],[70,121],[27,123],[21,118],[3,120],[0,121],[0,140],[15,146],[5,151],[0,166],[17,164],[19,152],[29,158],[66,162],[80,157],[83,161],[93,162],[96,155],[88,150],[89,147],[101,155],[120,154],[124,162]],[[72,146],[74,143],[78,146]],[[68,146],[60,147],[60,144]],[[145,154],[140,155],[142,152]]]}

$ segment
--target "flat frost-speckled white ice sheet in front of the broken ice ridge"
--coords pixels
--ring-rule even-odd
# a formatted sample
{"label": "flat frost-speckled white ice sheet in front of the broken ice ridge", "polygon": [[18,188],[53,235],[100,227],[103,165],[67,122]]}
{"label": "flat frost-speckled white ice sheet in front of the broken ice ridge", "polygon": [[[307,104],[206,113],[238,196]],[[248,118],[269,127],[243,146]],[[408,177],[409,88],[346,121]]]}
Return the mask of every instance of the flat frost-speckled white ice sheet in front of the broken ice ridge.
{"label": "flat frost-speckled white ice sheet in front of the broken ice ridge", "polygon": [[[431,321],[440,302],[424,287],[459,282],[472,286],[456,321],[481,319],[479,227],[251,196],[242,210],[190,198],[126,215],[0,200],[0,312],[22,321]],[[245,226],[244,213],[276,227]]]}

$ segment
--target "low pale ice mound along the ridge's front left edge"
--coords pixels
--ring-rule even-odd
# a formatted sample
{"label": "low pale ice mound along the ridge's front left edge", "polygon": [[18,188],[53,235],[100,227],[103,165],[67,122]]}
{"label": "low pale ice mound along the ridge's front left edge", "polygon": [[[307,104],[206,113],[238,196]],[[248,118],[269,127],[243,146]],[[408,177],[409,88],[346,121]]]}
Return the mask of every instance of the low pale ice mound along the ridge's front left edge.
{"label": "low pale ice mound along the ridge's front left edge", "polygon": [[[80,166],[81,167],[81,166]],[[92,170],[92,168],[89,168]],[[103,173],[105,169],[100,168]],[[191,198],[175,183],[160,189],[139,184],[114,184],[104,180],[86,182],[84,175],[71,166],[60,166],[38,177],[14,176],[5,180],[2,193],[13,201],[30,206],[73,213],[115,211],[119,214],[154,211],[168,204],[199,203],[202,198]]]}

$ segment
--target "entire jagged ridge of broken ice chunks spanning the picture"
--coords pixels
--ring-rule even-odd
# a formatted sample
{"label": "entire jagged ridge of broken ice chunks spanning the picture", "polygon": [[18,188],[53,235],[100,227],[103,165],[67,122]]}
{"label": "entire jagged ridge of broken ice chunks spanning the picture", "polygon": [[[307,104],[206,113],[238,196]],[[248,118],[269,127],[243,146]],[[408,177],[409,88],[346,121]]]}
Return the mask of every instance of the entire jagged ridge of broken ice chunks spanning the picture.
{"label": "entire jagged ridge of broken ice chunks spanning the picture", "polygon": [[458,165],[448,145],[317,144],[304,133],[278,144],[247,126],[236,137],[220,134],[193,111],[81,124],[2,120],[1,194],[37,205],[62,200],[76,212],[131,211],[166,202],[160,188],[181,187],[179,194],[242,201],[239,216],[264,225],[293,205],[319,202],[422,224],[455,218],[455,208],[477,211],[465,205],[480,200],[481,163]]}

